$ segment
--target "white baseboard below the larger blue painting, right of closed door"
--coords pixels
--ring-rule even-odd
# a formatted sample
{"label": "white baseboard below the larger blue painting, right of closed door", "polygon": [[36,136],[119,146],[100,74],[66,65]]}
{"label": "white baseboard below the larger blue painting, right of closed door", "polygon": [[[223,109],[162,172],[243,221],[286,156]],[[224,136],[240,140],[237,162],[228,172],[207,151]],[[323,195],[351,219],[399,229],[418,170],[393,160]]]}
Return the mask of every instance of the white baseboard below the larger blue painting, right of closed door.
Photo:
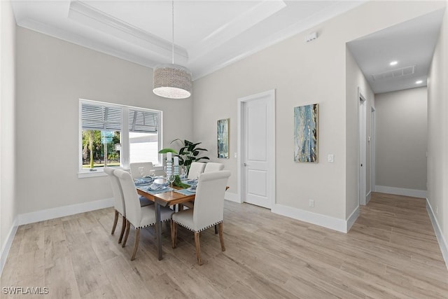
{"label": "white baseboard below the larger blue painting, right of closed door", "polygon": [[[310,211],[305,211],[302,209],[295,209],[292,207],[286,207],[281,204],[274,204],[271,209],[272,213],[294,218],[307,223],[312,223],[316,225],[323,226],[324,228],[330,228],[332,230],[337,230],[338,232],[348,231],[348,221],[344,221],[339,218],[325,216],[322,214],[316,214]],[[353,214],[352,214],[353,215]],[[351,219],[352,216],[350,216]],[[353,216],[356,217],[357,216]],[[350,220],[351,221],[351,220]],[[353,221],[354,222],[354,221]]]}

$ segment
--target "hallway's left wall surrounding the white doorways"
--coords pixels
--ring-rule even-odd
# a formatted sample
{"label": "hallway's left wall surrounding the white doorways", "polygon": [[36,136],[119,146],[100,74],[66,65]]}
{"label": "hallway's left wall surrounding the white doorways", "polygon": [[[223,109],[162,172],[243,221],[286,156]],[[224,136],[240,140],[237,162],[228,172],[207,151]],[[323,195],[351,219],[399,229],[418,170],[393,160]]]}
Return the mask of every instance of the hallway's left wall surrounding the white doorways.
{"label": "hallway's left wall surrounding the white doorways", "polygon": [[[370,118],[371,109],[374,107],[374,93],[369,83],[365,79],[363,72],[359,69],[358,64],[351,55],[350,50],[346,50],[346,217],[349,217],[353,211],[356,211],[358,205],[358,190],[352,187],[353,182],[358,180],[358,102],[359,93],[365,98],[366,111],[366,139],[370,136]],[[372,165],[370,163],[370,142],[366,142],[366,185],[365,195],[370,193],[370,171]],[[366,199],[367,202],[367,199]]]}

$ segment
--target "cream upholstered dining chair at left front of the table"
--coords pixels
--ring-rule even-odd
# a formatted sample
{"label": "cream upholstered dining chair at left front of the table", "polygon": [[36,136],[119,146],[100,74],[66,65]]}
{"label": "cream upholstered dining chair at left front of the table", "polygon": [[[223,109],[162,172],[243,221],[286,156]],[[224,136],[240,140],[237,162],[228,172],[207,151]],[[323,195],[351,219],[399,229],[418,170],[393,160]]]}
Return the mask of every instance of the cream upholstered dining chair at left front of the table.
{"label": "cream upholstered dining chair at left front of the table", "polygon": [[[156,222],[155,207],[154,205],[140,207],[139,195],[137,194],[137,189],[134,186],[134,180],[128,172],[116,169],[113,174],[118,177],[121,189],[123,190],[123,197],[125,198],[127,224],[125,239],[123,239],[123,247],[126,245],[130,226],[133,225],[135,228],[134,251],[132,251],[131,256],[131,260],[134,260],[137,249],[139,248],[141,228],[146,228],[148,226],[154,225]],[[169,209],[168,207],[160,207],[161,221],[169,221],[173,212],[174,211],[172,209]]]}

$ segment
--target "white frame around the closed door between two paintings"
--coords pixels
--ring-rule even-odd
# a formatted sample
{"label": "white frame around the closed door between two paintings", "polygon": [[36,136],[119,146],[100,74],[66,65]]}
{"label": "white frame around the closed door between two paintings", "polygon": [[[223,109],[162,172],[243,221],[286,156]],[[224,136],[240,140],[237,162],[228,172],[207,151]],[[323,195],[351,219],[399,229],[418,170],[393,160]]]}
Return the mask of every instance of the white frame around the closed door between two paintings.
{"label": "white frame around the closed door between two paintings", "polygon": [[269,160],[267,162],[267,196],[271,198],[271,209],[274,207],[275,200],[275,90],[267,90],[255,95],[249,95],[246,97],[240,97],[238,99],[238,141],[237,141],[237,175],[238,175],[238,198],[239,202],[245,202],[243,190],[246,190],[246,178],[243,175],[243,163],[244,163],[244,104],[246,102],[256,101],[258,99],[267,99],[267,156]]}

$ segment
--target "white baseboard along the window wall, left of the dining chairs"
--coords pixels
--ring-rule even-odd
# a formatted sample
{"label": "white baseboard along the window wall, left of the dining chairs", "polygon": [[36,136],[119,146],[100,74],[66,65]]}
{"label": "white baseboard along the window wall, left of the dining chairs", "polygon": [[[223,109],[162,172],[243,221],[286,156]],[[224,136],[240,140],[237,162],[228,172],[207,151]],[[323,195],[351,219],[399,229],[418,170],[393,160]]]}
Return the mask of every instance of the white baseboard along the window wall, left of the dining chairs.
{"label": "white baseboard along the window wall, left of the dining chairs", "polygon": [[94,211],[96,209],[104,209],[113,207],[113,198],[105,200],[95,200],[93,202],[84,202],[82,204],[71,204],[69,206],[57,207],[52,209],[44,209],[26,214],[19,214],[19,225],[44,221],[53,218],[70,216],[74,214],[84,213],[86,211]]}

